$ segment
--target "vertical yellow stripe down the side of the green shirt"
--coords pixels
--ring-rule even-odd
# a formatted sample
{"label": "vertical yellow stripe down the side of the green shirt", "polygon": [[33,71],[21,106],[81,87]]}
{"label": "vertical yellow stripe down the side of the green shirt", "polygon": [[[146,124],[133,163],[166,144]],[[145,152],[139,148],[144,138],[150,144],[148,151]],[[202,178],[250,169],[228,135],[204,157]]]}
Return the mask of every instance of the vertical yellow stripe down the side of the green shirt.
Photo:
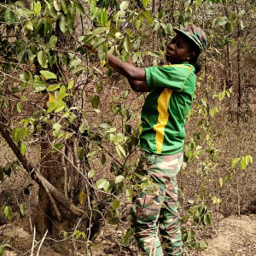
{"label": "vertical yellow stripe down the side of the green shirt", "polygon": [[162,93],[160,94],[157,100],[157,104],[158,104],[157,111],[159,115],[158,115],[157,123],[156,125],[154,125],[154,131],[156,132],[155,144],[156,144],[157,154],[161,153],[162,146],[164,143],[165,127],[169,119],[168,106],[169,106],[169,100],[171,96],[172,96],[172,90],[165,88],[165,90],[162,91]]}

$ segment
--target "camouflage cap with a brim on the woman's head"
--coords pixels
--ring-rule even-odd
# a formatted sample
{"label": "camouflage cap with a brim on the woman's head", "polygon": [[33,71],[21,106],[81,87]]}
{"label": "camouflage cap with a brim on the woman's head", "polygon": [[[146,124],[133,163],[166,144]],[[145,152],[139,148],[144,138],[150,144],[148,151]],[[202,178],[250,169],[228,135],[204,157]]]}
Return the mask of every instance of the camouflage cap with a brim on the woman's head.
{"label": "camouflage cap with a brim on the woman's head", "polygon": [[177,28],[173,29],[175,32],[181,32],[183,35],[190,38],[200,49],[207,49],[207,37],[205,32],[200,27],[190,24],[184,30]]}

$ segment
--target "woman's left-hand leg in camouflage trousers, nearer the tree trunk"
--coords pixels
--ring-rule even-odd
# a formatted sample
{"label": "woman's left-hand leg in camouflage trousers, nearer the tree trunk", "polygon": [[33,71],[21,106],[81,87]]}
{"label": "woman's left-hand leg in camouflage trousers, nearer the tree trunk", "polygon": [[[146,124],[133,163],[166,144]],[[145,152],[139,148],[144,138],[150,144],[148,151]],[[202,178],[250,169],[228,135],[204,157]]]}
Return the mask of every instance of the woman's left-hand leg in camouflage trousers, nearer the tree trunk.
{"label": "woman's left-hand leg in camouflage trousers, nearer the tree trunk", "polygon": [[[156,159],[157,155],[154,154],[146,154],[146,157],[142,157],[136,171],[140,177],[137,179],[138,183],[141,183],[143,177],[151,177]],[[135,230],[134,237],[143,255],[163,255],[157,234],[157,223],[164,193],[162,184],[153,183],[137,195],[131,207],[131,227]]]}

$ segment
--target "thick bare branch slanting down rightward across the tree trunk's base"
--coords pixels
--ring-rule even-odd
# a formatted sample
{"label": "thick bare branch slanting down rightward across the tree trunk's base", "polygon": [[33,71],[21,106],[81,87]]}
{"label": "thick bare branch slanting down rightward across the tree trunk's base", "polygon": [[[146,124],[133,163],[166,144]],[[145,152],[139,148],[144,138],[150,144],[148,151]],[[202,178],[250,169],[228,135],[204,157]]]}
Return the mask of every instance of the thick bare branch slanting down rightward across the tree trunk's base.
{"label": "thick bare branch slanting down rightward across the tree trunk's base", "polygon": [[79,209],[78,207],[75,207],[70,201],[68,201],[67,198],[64,195],[62,195],[59,190],[55,189],[55,187],[51,183],[49,183],[49,181],[26,160],[26,157],[20,153],[20,149],[16,146],[15,142],[10,137],[7,127],[3,125],[3,123],[1,122],[0,132],[2,134],[2,137],[5,139],[6,143],[8,143],[9,148],[13,150],[15,156],[20,161],[21,165],[24,167],[26,172],[30,174],[32,179],[44,189],[47,188],[49,194],[52,195],[52,197],[55,198],[55,201],[61,204],[62,207],[65,207],[67,210],[72,212],[73,215],[77,217],[82,217],[85,212]]}

